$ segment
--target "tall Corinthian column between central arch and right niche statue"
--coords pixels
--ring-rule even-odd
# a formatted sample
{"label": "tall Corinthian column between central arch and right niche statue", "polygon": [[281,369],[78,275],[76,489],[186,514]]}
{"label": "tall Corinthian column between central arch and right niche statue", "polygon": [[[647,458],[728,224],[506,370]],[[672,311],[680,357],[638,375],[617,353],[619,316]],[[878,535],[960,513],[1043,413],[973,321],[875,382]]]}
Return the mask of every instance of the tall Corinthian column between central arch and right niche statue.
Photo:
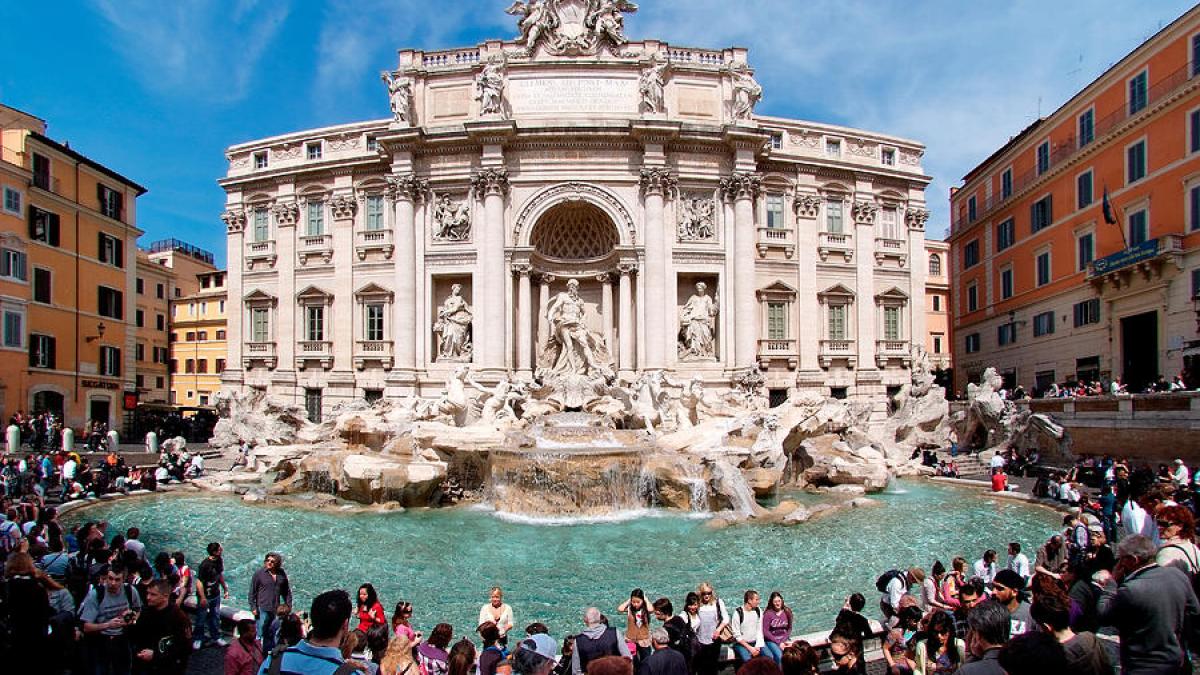
{"label": "tall Corinthian column between central arch and right niche statue", "polygon": [[667,292],[666,227],[662,223],[662,198],[674,189],[677,179],[664,168],[642,169],[646,196],[646,364],[648,369],[666,368],[667,317],[674,307],[674,293]]}

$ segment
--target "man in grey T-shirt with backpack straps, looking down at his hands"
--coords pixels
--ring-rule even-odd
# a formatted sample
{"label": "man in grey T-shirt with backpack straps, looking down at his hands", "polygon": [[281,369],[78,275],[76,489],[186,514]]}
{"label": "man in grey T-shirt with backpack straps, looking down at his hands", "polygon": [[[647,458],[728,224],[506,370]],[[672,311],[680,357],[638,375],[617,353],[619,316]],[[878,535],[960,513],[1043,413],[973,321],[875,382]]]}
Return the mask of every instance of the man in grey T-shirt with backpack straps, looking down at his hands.
{"label": "man in grey T-shirt with backpack straps, looking down at his hands", "polygon": [[127,675],[132,664],[130,627],[142,610],[142,598],[126,583],[125,566],[104,566],[100,583],[79,605],[79,621],[88,640],[88,662],[97,675]]}

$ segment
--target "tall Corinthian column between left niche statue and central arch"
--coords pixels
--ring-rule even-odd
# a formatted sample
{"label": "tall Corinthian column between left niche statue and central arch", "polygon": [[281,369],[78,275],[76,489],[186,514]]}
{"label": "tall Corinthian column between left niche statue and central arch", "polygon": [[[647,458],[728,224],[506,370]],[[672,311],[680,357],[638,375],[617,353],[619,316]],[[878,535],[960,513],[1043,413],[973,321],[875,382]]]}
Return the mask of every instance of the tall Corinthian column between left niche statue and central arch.
{"label": "tall Corinthian column between left niche statue and central arch", "polygon": [[486,168],[470,179],[476,196],[484,197],[484,227],[479,238],[479,269],[475,309],[475,363],[485,370],[500,371],[504,363],[504,195],[509,191],[509,172]]}

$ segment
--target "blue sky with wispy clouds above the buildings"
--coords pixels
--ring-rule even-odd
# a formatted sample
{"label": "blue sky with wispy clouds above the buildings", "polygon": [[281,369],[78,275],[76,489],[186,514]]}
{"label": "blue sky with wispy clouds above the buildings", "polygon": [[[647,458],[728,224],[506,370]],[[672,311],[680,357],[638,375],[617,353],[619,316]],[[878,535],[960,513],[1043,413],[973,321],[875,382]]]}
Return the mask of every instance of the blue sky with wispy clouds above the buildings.
{"label": "blue sky with wispy clouds above the buildings", "polygon": [[[512,37],[506,0],[11,0],[0,102],[149,187],[144,241],[224,259],[224,148],[379,119],[396,49]],[[1192,5],[644,0],[630,37],[750,49],[758,112],[924,142],[930,235],[961,177]]]}

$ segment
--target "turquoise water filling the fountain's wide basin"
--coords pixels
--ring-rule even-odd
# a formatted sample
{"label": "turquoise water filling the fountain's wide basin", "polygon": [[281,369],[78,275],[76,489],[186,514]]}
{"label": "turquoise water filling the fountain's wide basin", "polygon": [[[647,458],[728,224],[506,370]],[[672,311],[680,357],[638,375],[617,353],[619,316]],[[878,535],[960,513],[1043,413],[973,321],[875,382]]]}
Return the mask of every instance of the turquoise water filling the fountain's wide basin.
{"label": "turquoise water filling the fountain's wide basin", "polygon": [[518,629],[541,621],[558,637],[582,628],[588,605],[614,615],[635,586],[682,608],[684,595],[706,580],[731,611],[745,589],[781,591],[796,613],[796,633],[821,631],[854,591],[868,597],[874,616],[875,578],[886,569],[928,571],[934,558],[949,567],[955,555],[974,561],[986,548],[1003,552],[1010,540],[1032,555],[1061,522],[1049,509],[976,490],[926,482],[898,486],[901,494],[876,496],[881,507],[791,527],[724,530],[661,512],[550,526],[480,508],[340,514],[182,495],[102,503],[68,515],[72,522],[108,520],[109,533],[137,525],[149,551],[184,550],[193,565],[208,542],[221,542],[239,607],[263,555],[278,550],[301,609],[324,590],[353,592],[370,581],[389,616],[406,599],[419,629],[428,634],[446,621],[458,635],[475,627],[488,589],[499,585]]}

